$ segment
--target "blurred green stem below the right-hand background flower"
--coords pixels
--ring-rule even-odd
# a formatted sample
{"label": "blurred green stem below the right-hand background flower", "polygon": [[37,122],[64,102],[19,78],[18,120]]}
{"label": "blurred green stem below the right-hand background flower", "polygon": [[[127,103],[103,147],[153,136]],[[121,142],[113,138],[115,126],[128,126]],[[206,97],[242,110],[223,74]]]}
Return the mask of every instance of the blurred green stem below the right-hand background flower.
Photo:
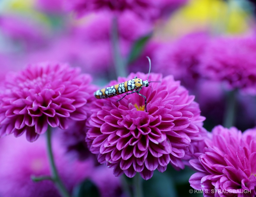
{"label": "blurred green stem below the right-hand background flower", "polygon": [[226,109],[224,113],[223,126],[230,128],[234,126],[236,119],[236,90],[227,92]]}

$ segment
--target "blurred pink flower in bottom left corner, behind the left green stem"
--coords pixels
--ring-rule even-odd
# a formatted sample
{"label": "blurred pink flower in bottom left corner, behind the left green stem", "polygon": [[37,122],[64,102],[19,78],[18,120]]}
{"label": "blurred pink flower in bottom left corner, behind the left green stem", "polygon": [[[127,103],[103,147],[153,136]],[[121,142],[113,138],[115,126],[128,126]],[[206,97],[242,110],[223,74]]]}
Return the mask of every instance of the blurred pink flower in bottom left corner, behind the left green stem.
{"label": "blurred pink flower in bottom left corner, behind the left green stem", "polygon": [[[60,177],[71,192],[70,164],[62,157],[62,149],[53,141],[53,153]],[[7,136],[0,139],[0,196],[8,197],[60,197],[50,180],[34,182],[31,176],[50,176],[50,166],[46,154],[44,137],[29,143],[24,137]],[[87,165],[90,171],[90,165]]]}

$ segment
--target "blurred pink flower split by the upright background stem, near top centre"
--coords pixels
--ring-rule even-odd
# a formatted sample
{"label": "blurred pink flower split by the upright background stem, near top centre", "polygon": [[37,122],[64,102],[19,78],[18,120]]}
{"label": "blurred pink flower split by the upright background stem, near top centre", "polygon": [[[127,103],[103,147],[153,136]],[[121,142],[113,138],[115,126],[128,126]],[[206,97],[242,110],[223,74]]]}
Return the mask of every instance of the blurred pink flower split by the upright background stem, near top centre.
{"label": "blurred pink flower split by the upright background stem, near top centre", "polygon": [[[102,12],[92,15],[90,20],[76,26],[73,32],[82,40],[96,42],[111,40],[113,13]],[[135,41],[153,31],[151,23],[141,19],[132,11],[124,11],[117,18],[118,36],[121,40]]]}

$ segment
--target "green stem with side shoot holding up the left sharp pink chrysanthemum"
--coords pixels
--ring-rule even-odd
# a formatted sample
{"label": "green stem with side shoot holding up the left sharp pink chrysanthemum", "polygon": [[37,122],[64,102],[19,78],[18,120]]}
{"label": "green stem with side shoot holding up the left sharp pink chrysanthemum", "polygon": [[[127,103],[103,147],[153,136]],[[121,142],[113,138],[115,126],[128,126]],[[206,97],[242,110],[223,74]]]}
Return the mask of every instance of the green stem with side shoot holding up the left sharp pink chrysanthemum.
{"label": "green stem with side shoot holding up the left sharp pink chrysanthemum", "polygon": [[52,180],[54,181],[56,187],[58,188],[60,194],[62,197],[70,197],[67,189],[63,185],[63,183],[60,180],[60,176],[58,174],[56,165],[54,163],[54,158],[52,154],[52,143],[51,143],[51,128],[48,127],[47,131],[47,153],[48,153],[48,158],[50,161],[50,166],[51,166],[51,174],[52,174]]}

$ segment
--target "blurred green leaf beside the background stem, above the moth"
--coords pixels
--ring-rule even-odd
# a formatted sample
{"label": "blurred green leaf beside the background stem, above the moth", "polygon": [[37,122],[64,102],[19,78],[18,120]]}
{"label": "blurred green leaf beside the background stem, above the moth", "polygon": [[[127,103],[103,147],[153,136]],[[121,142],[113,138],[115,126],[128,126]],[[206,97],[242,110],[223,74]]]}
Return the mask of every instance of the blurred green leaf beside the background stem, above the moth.
{"label": "blurred green leaf beside the background stem, above the moth", "polygon": [[128,64],[132,63],[134,60],[136,60],[140,56],[145,45],[147,44],[148,40],[152,37],[152,35],[153,33],[151,32],[135,41],[127,59]]}

